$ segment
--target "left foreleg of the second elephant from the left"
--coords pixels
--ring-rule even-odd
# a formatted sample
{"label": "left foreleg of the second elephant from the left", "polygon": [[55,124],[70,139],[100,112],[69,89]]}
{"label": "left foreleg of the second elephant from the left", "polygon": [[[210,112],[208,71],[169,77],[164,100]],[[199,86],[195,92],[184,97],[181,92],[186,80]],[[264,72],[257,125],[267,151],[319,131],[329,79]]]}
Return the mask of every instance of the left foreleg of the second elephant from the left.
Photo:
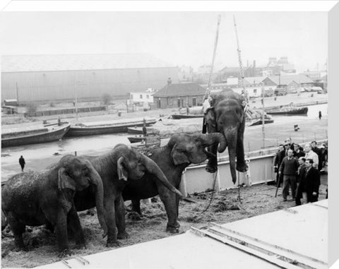
{"label": "left foreleg of the second elephant from the left", "polygon": [[107,244],[106,246],[120,246],[117,240],[117,230],[115,228],[115,209],[114,197],[105,198],[105,221],[107,225]]}

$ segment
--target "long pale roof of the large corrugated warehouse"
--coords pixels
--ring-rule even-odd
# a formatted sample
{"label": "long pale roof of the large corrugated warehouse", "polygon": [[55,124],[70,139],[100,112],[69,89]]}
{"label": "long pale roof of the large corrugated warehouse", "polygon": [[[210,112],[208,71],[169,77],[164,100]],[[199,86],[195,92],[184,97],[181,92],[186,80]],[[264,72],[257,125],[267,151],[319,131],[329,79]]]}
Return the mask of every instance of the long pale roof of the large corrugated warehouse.
{"label": "long pale roof of the large corrugated warehouse", "polygon": [[1,72],[173,67],[150,54],[4,55]]}

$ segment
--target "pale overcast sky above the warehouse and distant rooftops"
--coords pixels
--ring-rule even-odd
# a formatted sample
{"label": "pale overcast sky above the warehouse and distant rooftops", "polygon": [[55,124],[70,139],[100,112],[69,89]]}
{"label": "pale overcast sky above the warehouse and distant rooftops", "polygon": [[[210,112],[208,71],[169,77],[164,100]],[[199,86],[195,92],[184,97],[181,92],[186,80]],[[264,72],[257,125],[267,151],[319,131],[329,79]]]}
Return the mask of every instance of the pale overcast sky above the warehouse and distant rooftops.
{"label": "pale overcast sky above the warehouse and distant rooftops", "polygon": [[[1,54],[149,53],[195,71],[212,61],[220,12],[1,13]],[[215,69],[288,56],[298,71],[325,68],[327,12],[223,12]]]}

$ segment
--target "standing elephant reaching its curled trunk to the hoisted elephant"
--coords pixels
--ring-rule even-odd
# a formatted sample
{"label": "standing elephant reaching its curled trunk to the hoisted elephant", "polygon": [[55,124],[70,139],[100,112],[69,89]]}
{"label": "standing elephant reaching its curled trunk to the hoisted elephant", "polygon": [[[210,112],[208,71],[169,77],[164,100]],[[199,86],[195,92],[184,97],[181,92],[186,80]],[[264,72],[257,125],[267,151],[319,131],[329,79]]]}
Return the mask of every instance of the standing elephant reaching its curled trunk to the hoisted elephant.
{"label": "standing elephant reaching its curled trunk to the hoisted elephant", "polygon": [[[221,133],[189,135],[186,133],[172,136],[167,145],[151,149],[146,155],[162,169],[169,182],[179,188],[182,172],[191,163],[199,164],[210,157],[206,148],[216,145],[218,152],[226,149],[226,141]],[[168,217],[167,232],[179,232],[179,196],[170,193],[160,185],[152,174],[146,173],[142,179],[133,181],[122,192],[125,201],[132,201],[132,209],[141,215],[140,200],[159,194]]]}

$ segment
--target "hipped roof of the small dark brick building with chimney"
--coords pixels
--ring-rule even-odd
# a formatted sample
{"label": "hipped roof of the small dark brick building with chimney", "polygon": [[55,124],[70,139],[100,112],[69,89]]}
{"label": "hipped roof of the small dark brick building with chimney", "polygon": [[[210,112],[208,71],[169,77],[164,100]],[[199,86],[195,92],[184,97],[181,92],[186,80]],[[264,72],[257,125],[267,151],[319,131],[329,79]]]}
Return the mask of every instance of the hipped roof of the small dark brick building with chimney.
{"label": "hipped roof of the small dark brick building with chimney", "polygon": [[204,95],[206,90],[196,83],[167,84],[156,92],[154,97],[176,97],[187,95]]}

